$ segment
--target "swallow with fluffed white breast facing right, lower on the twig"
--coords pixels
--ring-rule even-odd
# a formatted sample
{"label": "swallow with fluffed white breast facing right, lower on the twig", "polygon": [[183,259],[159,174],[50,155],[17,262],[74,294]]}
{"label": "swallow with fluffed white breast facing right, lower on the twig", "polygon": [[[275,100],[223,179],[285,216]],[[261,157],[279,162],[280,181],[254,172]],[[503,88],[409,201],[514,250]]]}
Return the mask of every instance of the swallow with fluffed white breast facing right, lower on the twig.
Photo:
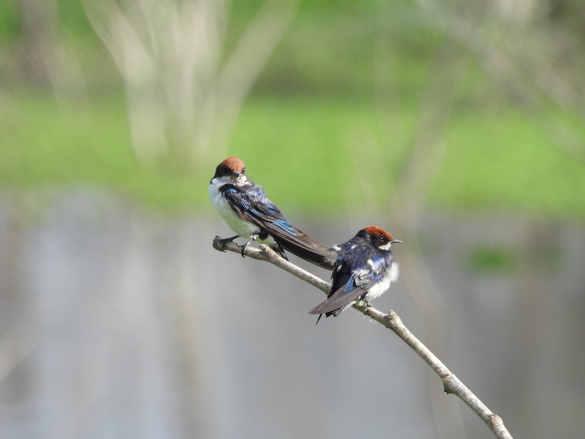
{"label": "swallow with fluffed white breast facing right, lower on the twig", "polygon": [[356,301],[364,300],[369,304],[398,279],[398,264],[390,251],[393,242],[401,241],[386,230],[371,225],[339,246],[329,296],[309,311],[309,314],[319,314],[317,323],[322,314],[337,317]]}

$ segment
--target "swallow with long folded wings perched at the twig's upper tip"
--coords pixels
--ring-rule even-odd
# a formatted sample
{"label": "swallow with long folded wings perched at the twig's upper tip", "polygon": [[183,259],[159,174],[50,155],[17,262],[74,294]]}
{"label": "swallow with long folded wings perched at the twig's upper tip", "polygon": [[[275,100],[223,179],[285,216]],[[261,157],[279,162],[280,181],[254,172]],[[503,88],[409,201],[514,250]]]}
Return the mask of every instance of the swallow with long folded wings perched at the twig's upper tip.
{"label": "swallow with long folded wings perched at the twig's upper tip", "polygon": [[228,157],[219,163],[209,181],[209,196],[215,210],[238,235],[222,239],[226,243],[241,236],[265,243],[284,259],[285,250],[328,270],[333,269],[336,252],[292,226],[280,209],[266,198],[264,188],[248,180],[242,160]]}

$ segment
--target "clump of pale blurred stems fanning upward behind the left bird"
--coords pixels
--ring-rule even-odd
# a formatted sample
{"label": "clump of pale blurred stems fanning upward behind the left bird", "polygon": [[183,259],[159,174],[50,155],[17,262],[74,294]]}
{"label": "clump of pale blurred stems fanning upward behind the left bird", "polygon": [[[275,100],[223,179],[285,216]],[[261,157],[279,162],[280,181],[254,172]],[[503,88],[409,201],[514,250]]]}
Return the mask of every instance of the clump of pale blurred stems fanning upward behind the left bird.
{"label": "clump of pale blurred stems fanning upward behind the left bird", "polygon": [[266,0],[225,53],[228,2],[82,0],[125,83],[141,163],[193,166],[227,148],[243,101],[300,0]]}

